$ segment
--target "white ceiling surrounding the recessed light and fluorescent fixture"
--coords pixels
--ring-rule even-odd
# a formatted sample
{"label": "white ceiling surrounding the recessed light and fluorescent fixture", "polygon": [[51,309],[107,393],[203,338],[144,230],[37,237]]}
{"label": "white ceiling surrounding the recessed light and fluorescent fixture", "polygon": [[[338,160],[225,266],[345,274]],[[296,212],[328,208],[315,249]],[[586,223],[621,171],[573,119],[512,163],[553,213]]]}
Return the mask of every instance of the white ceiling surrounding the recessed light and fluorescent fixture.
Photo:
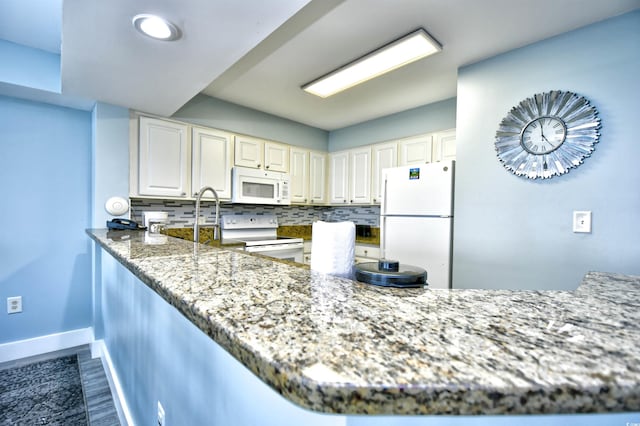
{"label": "white ceiling surrounding the recessed light and fluorescent fixture", "polygon": [[[61,1],[0,0],[0,38],[55,52],[61,31],[62,98],[170,116],[203,92],[326,130],[454,97],[460,66],[640,8],[640,0]],[[184,37],[136,33],[131,18],[150,12]],[[327,99],[300,89],[419,27],[441,53]]]}

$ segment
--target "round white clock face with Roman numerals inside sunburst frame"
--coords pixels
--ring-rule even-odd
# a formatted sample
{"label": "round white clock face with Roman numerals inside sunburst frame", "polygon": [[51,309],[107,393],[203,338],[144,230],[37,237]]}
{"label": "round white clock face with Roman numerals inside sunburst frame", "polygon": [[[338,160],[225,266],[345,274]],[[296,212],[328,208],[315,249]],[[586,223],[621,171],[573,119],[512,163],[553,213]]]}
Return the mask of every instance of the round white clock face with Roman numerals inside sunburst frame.
{"label": "round white clock face with Roman numerals inside sunburst frame", "polygon": [[525,126],[520,134],[520,144],[530,154],[543,155],[562,145],[567,126],[557,117],[539,117]]}

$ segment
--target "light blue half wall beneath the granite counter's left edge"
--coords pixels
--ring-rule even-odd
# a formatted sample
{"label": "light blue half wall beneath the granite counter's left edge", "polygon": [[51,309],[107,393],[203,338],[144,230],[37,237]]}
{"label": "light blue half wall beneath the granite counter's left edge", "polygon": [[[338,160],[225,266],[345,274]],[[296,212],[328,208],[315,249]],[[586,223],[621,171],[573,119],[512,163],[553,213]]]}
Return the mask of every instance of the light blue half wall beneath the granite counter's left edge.
{"label": "light blue half wall beneath the granite counter's left edge", "polygon": [[340,416],[303,410],[282,398],[157,296],[110,254],[103,271],[104,342],[134,424],[343,426]]}

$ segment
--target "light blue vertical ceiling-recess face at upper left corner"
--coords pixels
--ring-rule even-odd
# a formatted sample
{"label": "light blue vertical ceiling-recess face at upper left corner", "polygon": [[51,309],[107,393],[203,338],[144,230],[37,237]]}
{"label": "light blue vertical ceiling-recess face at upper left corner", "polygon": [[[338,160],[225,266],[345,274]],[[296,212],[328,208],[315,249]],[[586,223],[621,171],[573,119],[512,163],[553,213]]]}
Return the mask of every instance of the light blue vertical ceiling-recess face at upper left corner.
{"label": "light blue vertical ceiling-recess face at upper left corner", "polygon": [[0,82],[60,93],[60,55],[0,40]]}

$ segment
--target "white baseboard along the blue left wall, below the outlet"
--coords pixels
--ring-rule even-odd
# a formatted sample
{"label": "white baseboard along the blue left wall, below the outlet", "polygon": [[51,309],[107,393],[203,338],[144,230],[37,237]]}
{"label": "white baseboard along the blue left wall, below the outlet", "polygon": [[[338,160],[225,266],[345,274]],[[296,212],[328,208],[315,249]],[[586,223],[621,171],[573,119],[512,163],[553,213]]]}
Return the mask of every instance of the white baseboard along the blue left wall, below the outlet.
{"label": "white baseboard along the blue left wall, below the outlet", "polygon": [[93,327],[54,333],[0,344],[0,363],[88,345],[93,342]]}

